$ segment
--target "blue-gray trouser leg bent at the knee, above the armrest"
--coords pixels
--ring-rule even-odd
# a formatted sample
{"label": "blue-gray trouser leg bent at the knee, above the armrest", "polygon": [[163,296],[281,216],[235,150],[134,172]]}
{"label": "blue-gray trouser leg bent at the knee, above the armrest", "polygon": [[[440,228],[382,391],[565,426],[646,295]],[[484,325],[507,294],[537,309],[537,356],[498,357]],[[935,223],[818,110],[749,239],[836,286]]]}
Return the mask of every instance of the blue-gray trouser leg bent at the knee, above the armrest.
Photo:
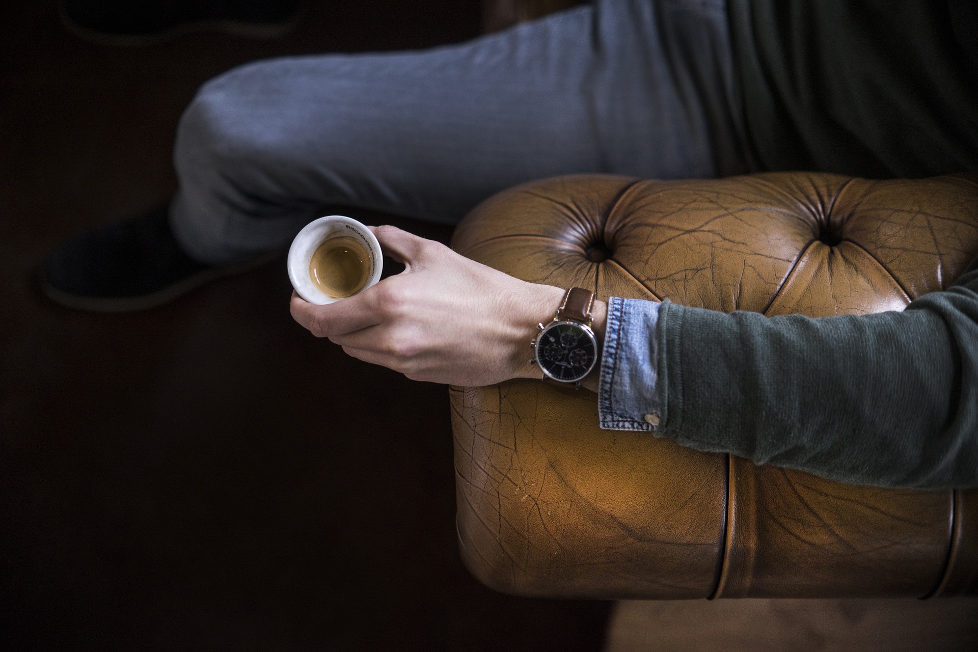
{"label": "blue-gray trouser leg bent at the knee, above the armrest", "polygon": [[229,263],[326,205],[456,223],[559,174],[733,174],[734,95],[724,0],[599,0],[461,45],[243,65],[180,122],[171,224]]}

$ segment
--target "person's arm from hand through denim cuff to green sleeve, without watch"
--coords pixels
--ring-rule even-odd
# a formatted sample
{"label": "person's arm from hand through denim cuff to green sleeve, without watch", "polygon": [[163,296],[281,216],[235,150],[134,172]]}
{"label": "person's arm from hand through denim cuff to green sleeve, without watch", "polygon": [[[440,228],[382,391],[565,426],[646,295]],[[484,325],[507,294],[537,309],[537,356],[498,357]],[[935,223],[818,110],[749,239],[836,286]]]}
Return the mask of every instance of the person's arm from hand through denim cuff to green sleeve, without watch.
{"label": "person's arm from hand through denim cuff to green sleeve, without watch", "polygon": [[[300,324],[418,380],[540,377],[529,341],[564,288],[375,233],[405,272],[327,306],[293,297]],[[978,260],[902,313],[769,319],[621,299],[593,313],[603,360],[584,385],[603,427],[862,484],[978,486]]]}

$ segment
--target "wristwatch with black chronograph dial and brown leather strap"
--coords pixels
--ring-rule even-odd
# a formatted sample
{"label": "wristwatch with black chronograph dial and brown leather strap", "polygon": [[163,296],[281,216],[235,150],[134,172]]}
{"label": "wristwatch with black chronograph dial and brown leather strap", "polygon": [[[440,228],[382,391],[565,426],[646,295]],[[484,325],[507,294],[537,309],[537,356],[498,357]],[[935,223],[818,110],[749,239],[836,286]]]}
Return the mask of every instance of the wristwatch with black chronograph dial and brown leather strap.
{"label": "wristwatch with black chronograph dial and brown leather strap", "polygon": [[561,383],[581,386],[598,363],[598,338],[591,329],[591,308],[595,293],[583,287],[571,287],[563,295],[554,321],[538,324],[540,333],[530,341],[535,357],[531,364],[543,371],[541,380],[551,378]]}

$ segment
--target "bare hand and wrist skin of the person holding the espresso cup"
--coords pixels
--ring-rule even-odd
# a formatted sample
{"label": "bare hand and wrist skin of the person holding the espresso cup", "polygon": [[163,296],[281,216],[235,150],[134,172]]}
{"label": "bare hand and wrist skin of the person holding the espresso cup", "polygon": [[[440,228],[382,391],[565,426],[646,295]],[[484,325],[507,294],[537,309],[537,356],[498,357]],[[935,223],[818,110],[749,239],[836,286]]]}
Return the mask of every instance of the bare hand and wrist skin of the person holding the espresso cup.
{"label": "bare hand and wrist skin of the person holding the espresso cup", "polygon": [[[520,281],[395,227],[372,230],[404,272],[325,306],[293,293],[296,322],[414,380],[480,386],[540,377],[529,363],[530,338],[538,322],[554,318],[563,288]],[[595,303],[602,333],[606,306]],[[597,375],[585,386],[597,388]]]}

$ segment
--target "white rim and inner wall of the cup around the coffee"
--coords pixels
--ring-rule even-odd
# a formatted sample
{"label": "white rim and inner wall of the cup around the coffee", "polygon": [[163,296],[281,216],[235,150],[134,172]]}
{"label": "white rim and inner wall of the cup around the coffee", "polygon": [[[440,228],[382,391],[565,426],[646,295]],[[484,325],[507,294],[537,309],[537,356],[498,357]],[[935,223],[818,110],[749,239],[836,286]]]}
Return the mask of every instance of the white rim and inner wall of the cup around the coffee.
{"label": "white rim and inner wall of the cup around the coffee", "polygon": [[289,246],[289,281],[299,296],[309,303],[320,306],[348,298],[327,296],[309,278],[309,262],[312,260],[312,254],[320,244],[335,233],[336,228],[333,225],[347,225],[355,234],[366,240],[366,243],[369,245],[368,249],[374,271],[367,279],[367,283],[364,283],[363,288],[360,290],[361,292],[380,280],[380,272],[383,268],[383,254],[380,250],[380,243],[374,233],[365,224],[345,215],[325,215],[313,220],[295,235],[295,238],[292,239],[292,243]]}

